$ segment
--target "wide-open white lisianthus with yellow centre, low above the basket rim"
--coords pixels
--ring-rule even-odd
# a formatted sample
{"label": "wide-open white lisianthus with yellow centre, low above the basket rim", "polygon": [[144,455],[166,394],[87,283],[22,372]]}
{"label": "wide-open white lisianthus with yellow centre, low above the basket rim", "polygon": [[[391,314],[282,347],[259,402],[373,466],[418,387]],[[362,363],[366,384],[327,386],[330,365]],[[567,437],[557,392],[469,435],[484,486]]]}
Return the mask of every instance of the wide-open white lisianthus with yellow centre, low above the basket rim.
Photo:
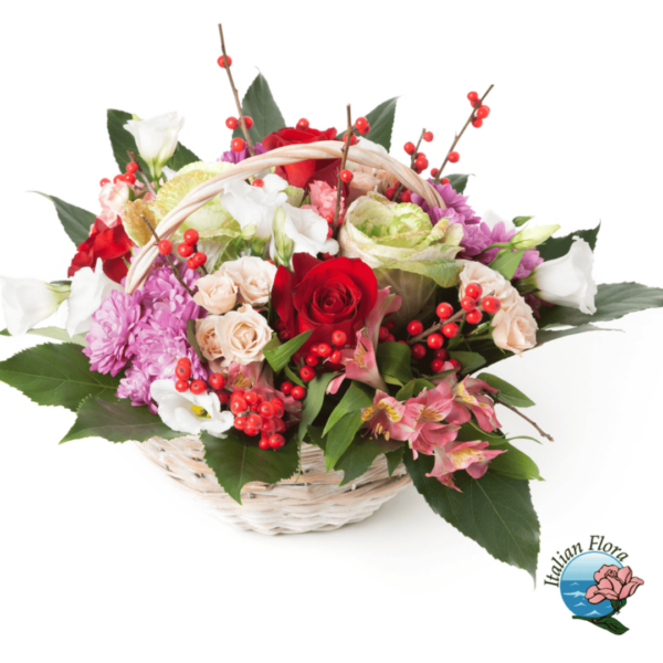
{"label": "wide-open white lisianthus with yellow centre, low above the basket rim", "polygon": [[179,392],[172,380],[156,380],[149,391],[158,403],[159,417],[173,431],[190,435],[206,431],[215,438],[224,438],[223,433],[232,428],[232,412],[221,412],[221,403],[214,393]]}

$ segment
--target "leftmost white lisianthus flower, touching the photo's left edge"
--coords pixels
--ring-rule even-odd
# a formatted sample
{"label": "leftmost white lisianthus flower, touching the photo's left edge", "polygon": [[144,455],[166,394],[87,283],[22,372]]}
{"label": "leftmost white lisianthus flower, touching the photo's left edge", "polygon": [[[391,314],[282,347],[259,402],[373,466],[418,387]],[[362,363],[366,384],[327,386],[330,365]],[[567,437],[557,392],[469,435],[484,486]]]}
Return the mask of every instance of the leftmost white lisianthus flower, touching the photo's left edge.
{"label": "leftmost white lisianthus flower, touching the photo's left edge", "polygon": [[70,296],[69,285],[55,285],[36,278],[0,276],[4,324],[12,336],[25,334],[51,317]]}

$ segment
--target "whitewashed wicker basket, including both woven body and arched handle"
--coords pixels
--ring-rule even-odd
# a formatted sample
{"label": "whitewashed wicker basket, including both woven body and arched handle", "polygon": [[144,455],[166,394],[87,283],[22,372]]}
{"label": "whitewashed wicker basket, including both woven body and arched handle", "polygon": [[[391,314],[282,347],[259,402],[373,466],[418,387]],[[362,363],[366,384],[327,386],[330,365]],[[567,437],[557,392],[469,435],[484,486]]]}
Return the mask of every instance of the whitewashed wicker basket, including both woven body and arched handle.
{"label": "whitewashed wicker basket, including both woven body and arched handle", "polygon": [[[322,141],[313,145],[282,147],[246,159],[197,187],[159,223],[159,239],[170,239],[189,214],[218,196],[228,181],[245,179],[265,168],[285,166],[305,159],[329,159],[343,156],[343,144]],[[348,158],[361,166],[392,172],[410,190],[427,202],[444,208],[438,191],[392,157],[350,147]],[[145,282],[158,256],[155,239],[134,261],[126,291],[134,292]],[[341,472],[325,472],[323,452],[302,444],[302,473],[298,477],[269,485],[250,483],[242,490],[242,505],[225,494],[214,473],[204,463],[203,448],[194,436],[162,440],[152,438],[138,444],[143,453],[181,487],[198,495],[222,520],[242,529],[261,534],[297,534],[337,529],[370,516],[385,502],[410,484],[403,465],[389,477],[387,461],[379,456],[357,481],[345,486]]]}

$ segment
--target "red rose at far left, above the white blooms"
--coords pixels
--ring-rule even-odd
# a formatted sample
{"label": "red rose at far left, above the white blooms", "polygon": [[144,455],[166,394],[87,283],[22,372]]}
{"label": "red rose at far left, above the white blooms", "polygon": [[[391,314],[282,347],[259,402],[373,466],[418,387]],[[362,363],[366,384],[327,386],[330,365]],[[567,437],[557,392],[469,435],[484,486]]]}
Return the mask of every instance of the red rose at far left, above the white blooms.
{"label": "red rose at far left, above the white blooms", "polygon": [[73,276],[81,267],[94,270],[96,261],[101,259],[104,274],[119,283],[129,271],[125,260],[131,257],[131,246],[119,218],[113,227],[106,225],[102,219],[95,219],[90,236],[78,245],[67,275]]}

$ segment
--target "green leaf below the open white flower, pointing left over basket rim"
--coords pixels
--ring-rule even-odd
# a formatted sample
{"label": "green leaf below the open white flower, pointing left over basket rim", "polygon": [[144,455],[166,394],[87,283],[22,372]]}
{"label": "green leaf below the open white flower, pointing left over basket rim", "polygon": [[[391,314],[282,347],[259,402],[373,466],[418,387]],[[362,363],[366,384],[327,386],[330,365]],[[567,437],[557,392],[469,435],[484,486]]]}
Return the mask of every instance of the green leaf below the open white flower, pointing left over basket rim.
{"label": "green leaf below the open white flower, pointing left over basket rim", "polygon": [[144,442],[149,438],[171,440],[182,434],[168,428],[147,406],[135,408],[126,399],[112,403],[87,398],[78,408],[74,425],[60,443],[84,438],[103,438],[108,442]]}

